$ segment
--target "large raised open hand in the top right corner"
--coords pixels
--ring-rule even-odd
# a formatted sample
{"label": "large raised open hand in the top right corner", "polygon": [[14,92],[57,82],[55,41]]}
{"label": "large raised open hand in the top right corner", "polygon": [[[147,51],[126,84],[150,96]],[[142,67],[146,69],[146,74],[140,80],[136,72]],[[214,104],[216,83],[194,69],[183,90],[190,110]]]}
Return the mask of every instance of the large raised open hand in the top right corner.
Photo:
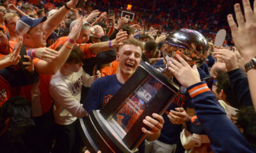
{"label": "large raised open hand in the top right corner", "polygon": [[256,1],[253,4],[253,11],[249,0],[243,0],[243,7],[244,15],[240,4],[234,5],[237,24],[231,14],[227,16],[227,20],[237,50],[245,62],[248,62],[256,56]]}

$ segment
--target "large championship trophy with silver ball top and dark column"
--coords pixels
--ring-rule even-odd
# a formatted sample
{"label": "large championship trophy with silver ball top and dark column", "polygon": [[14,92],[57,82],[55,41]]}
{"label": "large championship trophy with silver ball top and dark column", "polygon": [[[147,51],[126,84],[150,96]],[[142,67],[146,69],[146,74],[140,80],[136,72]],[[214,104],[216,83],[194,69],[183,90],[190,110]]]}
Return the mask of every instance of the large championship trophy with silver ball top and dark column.
{"label": "large championship trophy with silver ball top and dark column", "polygon": [[[181,55],[189,64],[202,64],[208,45],[198,31],[180,29],[169,34],[163,45],[165,60]],[[165,62],[166,63],[166,62]],[[140,66],[101,110],[93,110],[79,119],[79,132],[90,152],[136,152],[144,140],[143,119],[152,113],[163,115],[179,94],[168,65],[153,68],[147,62]],[[120,120],[119,113],[127,114]],[[148,129],[148,128],[147,128]]]}

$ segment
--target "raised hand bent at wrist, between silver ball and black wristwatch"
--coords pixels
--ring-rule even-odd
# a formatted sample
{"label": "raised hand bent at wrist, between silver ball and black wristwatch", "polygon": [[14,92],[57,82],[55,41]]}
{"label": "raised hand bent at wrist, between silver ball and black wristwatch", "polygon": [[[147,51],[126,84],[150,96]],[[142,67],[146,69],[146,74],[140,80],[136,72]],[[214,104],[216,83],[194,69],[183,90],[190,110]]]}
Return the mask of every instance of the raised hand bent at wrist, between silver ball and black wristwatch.
{"label": "raised hand bent at wrist, between silver ball and black wristwatch", "polygon": [[222,59],[225,64],[227,71],[232,71],[234,69],[239,68],[237,64],[236,53],[229,49],[217,49],[214,50],[214,57]]}

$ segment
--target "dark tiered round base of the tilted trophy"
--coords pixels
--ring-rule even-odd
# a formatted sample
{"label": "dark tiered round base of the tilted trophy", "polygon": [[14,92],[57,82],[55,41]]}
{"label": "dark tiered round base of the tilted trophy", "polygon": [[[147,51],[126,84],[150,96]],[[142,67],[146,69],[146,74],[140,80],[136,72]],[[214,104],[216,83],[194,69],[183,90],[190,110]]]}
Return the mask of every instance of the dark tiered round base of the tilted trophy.
{"label": "dark tiered round base of the tilted trophy", "polygon": [[100,115],[99,110],[93,110],[88,117],[79,119],[79,133],[86,148],[90,152],[136,152],[129,149],[116,131]]}

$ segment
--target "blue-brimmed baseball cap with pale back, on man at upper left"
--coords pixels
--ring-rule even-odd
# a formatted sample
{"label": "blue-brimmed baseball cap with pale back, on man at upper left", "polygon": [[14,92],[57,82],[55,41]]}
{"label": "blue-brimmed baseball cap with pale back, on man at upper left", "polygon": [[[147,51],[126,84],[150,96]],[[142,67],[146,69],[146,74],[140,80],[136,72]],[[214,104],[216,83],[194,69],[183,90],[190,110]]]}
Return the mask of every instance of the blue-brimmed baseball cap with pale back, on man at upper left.
{"label": "blue-brimmed baseball cap with pale back, on man at upper left", "polygon": [[45,20],[47,20],[47,17],[32,18],[29,16],[24,16],[20,18],[15,27],[17,36],[23,36],[24,34],[28,33],[29,29],[44,22]]}

